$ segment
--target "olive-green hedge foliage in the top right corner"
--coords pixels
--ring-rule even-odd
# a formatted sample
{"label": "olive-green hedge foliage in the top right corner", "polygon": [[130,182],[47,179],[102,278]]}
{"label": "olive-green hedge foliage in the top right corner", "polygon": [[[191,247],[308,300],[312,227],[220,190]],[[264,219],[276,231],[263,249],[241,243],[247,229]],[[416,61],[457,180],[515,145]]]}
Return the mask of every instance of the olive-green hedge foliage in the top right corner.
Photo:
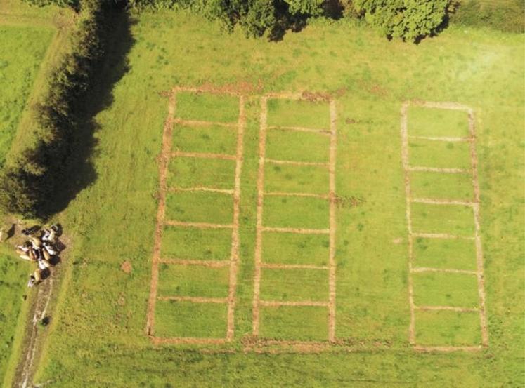
{"label": "olive-green hedge foliage in the top right corner", "polygon": [[525,1],[464,0],[451,14],[451,22],[503,32],[525,32]]}

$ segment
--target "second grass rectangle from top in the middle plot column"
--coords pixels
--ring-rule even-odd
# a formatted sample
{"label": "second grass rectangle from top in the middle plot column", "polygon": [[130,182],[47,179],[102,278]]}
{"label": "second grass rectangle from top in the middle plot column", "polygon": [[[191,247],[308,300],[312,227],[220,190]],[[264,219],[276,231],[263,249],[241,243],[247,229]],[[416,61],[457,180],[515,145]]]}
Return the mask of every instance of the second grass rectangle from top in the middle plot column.
{"label": "second grass rectangle from top in the middle plot column", "polygon": [[328,163],[330,137],[319,133],[271,130],[266,134],[266,158]]}

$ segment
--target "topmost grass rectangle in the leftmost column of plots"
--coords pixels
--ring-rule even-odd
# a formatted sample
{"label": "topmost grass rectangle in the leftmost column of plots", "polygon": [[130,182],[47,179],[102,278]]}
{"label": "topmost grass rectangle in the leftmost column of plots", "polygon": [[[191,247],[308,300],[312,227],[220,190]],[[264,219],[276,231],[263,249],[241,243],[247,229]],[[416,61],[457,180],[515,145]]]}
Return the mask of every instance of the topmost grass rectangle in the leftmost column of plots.
{"label": "topmost grass rectangle in the leftmost column of plots", "polygon": [[179,92],[176,95],[175,116],[184,120],[237,123],[239,98],[208,92]]}

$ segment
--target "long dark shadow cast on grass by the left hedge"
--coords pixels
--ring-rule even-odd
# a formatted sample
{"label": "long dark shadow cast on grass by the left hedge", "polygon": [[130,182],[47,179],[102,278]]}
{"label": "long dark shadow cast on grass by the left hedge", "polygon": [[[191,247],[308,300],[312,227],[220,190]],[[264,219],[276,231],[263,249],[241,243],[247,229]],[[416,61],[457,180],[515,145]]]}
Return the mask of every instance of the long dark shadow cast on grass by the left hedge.
{"label": "long dark shadow cast on grass by the left hedge", "polygon": [[70,135],[69,152],[56,161],[63,176],[55,194],[42,203],[40,218],[46,219],[67,208],[69,203],[97,179],[93,166],[100,129],[96,115],[112,105],[115,84],[129,71],[127,54],[134,44],[131,25],[134,21],[122,8],[108,9],[105,16],[103,56],[90,79],[90,85],[76,107],[76,125]]}

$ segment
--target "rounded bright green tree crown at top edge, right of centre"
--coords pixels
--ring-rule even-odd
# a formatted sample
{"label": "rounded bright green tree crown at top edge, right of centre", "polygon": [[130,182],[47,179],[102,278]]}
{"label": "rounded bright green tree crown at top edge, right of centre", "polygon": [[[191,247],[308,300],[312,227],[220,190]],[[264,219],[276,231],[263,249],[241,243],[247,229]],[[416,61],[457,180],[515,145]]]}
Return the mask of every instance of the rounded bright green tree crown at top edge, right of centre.
{"label": "rounded bright green tree crown at top edge, right of centre", "polygon": [[358,14],[389,38],[417,41],[443,23],[450,0],[354,0]]}

